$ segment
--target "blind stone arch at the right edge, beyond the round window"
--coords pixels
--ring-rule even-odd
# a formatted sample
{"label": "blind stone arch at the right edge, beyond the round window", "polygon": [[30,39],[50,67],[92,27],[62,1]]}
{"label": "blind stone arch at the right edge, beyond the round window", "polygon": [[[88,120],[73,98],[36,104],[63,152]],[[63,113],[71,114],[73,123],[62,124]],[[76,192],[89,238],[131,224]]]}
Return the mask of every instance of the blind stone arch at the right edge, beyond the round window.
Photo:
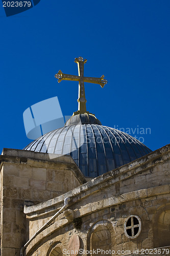
{"label": "blind stone arch at the right edge, beyond the round window", "polygon": [[170,245],[170,204],[161,206],[153,222],[154,247]]}

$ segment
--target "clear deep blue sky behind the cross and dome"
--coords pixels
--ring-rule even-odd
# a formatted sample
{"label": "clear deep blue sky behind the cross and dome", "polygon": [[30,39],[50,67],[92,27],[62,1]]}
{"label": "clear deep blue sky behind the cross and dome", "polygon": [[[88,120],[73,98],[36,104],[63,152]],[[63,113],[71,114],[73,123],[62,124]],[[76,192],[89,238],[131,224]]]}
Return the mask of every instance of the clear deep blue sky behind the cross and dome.
{"label": "clear deep blue sky behind the cross and dome", "polygon": [[110,127],[150,128],[131,135],[151,150],[170,143],[169,0],[41,0],[10,17],[1,4],[0,21],[1,151],[31,142],[22,114],[32,104],[58,96],[63,115],[77,111],[78,82],[54,75],[77,75],[79,56],[85,76],[108,80],[85,83],[87,111]]}

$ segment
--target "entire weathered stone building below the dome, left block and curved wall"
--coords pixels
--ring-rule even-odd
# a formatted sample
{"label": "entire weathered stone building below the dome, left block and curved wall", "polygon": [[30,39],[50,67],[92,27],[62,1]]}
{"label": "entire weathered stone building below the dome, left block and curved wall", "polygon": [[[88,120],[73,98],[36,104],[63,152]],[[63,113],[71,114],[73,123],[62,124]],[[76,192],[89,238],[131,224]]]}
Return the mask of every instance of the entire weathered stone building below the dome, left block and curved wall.
{"label": "entire weathered stone building below the dome, left block and curved wall", "polygon": [[144,255],[141,250],[170,246],[170,145],[88,182],[70,157],[54,157],[4,150],[3,256],[20,255],[65,198],[70,198],[67,208],[28,244],[26,255],[61,256],[79,248],[82,255],[96,249],[117,255],[138,249]]}

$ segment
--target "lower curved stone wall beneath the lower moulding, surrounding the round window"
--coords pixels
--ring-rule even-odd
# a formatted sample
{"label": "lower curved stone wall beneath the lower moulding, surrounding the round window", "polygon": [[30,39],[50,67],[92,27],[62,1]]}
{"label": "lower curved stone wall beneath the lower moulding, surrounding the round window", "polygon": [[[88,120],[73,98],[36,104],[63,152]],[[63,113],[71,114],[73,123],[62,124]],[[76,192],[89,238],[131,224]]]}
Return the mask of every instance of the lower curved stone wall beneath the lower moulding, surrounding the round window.
{"label": "lower curved stone wall beneath the lower moulding, surrounding the round window", "polygon": [[[111,242],[109,242],[109,244],[106,243],[102,245],[101,248],[107,249],[109,247],[112,251],[115,251],[115,255],[130,254],[134,250],[140,251],[141,249],[158,248],[159,244],[154,244],[154,216],[157,214],[157,209],[160,206],[164,206],[163,199],[165,196],[168,202],[166,205],[169,207],[168,209],[170,209],[169,194],[159,196],[158,199],[155,199],[155,197],[142,199],[142,202],[141,200],[133,200],[131,202],[126,202],[125,204],[113,205],[99,211],[90,212],[88,215],[82,217],[83,224],[80,230],[74,227],[73,221],[68,221],[67,219],[64,219],[64,215],[61,215],[55,223],[44,230],[44,232],[39,235],[39,237],[37,237],[33,243],[30,244],[27,249],[27,255],[50,255],[48,254],[48,251],[52,251],[52,248],[54,248],[56,242],[60,244],[62,251],[63,249],[69,250],[69,241],[76,234],[82,241],[80,248],[84,249],[85,251],[100,248],[100,246],[96,246],[95,248],[96,239],[93,239],[92,237],[97,228],[102,230],[101,240],[99,231],[97,230],[99,237],[99,241],[97,242],[99,245],[101,245],[101,242],[106,241],[105,238],[107,238],[108,242]],[[159,200],[161,199],[162,204],[159,204]],[[159,204],[158,206],[156,206],[157,203]],[[148,211],[150,210],[151,205],[153,217],[150,219]],[[131,215],[139,216],[142,223],[141,233],[135,240],[128,239],[124,232],[124,223],[126,219]],[[32,224],[32,228],[33,226],[34,225]],[[106,227],[109,231],[110,240],[109,236],[106,234],[106,228],[103,230],[103,227]],[[36,228],[34,228],[34,231],[36,231]],[[166,237],[168,237],[168,234],[169,233],[166,233]],[[161,238],[159,233],[157,233],[157,238]],[[165,246],[167,246],[167,244],[165,244]],[[74,247],[72,247],[72,249],[74,249]],[[128,253],[118,254],[116,253],[118,251],[126,251]],[[157,253],[156,255],[158,254],[162,255],[163,253]],[[69,255],[69,253],[66,255]]]}

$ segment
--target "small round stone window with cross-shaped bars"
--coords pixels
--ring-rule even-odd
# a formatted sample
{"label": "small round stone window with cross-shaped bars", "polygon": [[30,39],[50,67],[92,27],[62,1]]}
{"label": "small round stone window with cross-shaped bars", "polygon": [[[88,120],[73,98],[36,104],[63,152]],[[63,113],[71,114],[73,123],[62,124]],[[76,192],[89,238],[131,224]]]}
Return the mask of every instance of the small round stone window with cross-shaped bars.
{"label": "small round stone window with cross-shaped bars", "polygon": [[124,224],[125,236],[129,239],[137,238],[141,231],[141,220],[136,215],[131,215]]}

